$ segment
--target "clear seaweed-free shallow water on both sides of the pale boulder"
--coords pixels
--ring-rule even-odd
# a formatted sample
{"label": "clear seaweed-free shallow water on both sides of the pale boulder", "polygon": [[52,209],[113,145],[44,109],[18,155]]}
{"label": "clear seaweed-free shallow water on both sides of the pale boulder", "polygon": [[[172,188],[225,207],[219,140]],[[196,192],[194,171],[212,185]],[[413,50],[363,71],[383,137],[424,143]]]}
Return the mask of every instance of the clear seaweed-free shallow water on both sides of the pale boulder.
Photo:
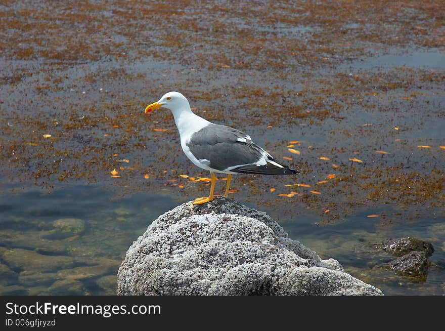
{"label": "clear seaweed-free shallow water on both sides of the pale boulder", "polygon": [[[1,197],[2,295],[114,295],[116,273],[132,241],[160,214],[184,202],[153,194],[114,199],[99,185]],[[282,220],[279,212],[265,211],[282,222],[291,238],[322,258],[339,260],[347,272],[385,294],[445,293],[443,215],[381,227],[381,221],[366,218],[366,211],[335,225],[317,224],[310,215]],[[379,267],[388,257],[376,254],[374,244],[406,235],[435,247],[425,282],[408,281]]]}

